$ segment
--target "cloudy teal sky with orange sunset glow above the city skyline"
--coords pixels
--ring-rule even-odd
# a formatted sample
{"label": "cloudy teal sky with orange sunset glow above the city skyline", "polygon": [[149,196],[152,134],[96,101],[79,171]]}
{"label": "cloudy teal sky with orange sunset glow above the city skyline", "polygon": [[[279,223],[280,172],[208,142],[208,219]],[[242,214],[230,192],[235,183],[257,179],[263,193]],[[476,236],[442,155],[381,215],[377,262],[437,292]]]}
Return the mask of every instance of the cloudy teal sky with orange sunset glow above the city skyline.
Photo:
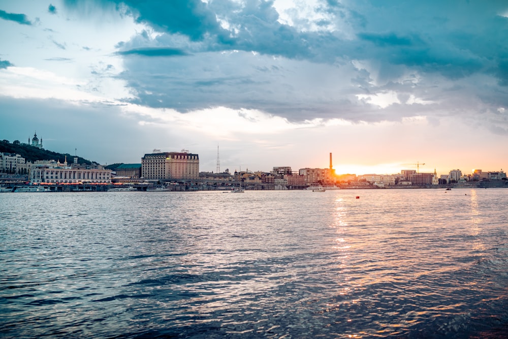
{"label": "cloudy teal sky with orange sunset glow above the city skyline", "polygon": [[0,139],[35,132],[103,165],[506,171],[508,2],[0,0]]}

